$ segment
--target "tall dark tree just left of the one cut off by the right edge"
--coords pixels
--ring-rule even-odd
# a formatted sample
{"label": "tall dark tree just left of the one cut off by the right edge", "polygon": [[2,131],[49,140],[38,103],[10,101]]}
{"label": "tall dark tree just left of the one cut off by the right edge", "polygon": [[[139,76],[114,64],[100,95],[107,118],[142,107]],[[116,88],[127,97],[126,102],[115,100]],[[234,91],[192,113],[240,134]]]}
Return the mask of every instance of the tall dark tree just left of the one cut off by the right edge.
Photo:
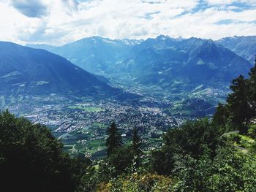
{"label": "tall dark tree just left of the one cut off by the right edge", "polygon": [[252,118],[252,107],[249,105],[248,83],[242,75],[232,81],[230,85],[233,93],[227,97],[231,119],[241,134],[247,133],[247,126]]}

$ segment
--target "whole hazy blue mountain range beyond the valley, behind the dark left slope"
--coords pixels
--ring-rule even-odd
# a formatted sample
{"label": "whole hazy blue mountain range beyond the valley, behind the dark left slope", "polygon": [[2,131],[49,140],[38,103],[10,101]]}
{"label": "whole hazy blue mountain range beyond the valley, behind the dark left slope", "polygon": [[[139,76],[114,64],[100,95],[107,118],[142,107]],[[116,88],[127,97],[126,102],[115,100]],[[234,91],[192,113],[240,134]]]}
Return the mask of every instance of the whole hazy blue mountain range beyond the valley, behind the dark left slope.
{"label": "whole hazy blue mountain range beyond the valley, behind the dark left slope", "polygon": [[[181,85],[217,85],[230,83],[239,74],[246,75],[252,67],[255,44],[252,37],[240,39],[238,48],[225,39],[173,39],[164,35],[146,40],[111,40],[102,37],[80,39],[60,47],[28,45],[59,54],[77,66],[95,74],[129,79],[140,85],[157,85],[168,91],[184,91]],[[243,40],[244,39],[244,40]],[[230,40],[236,44],[235,40]],[[242,45],[242,42],[244,44]],[[248,48],[246,48],[246,42]],[[244,47],[240,55],[239,49]],[[247,54],[245,54],[245,52]],[[119,78],[121,77],[121,78]],[[132,85],[133,86],[133,85]]]}

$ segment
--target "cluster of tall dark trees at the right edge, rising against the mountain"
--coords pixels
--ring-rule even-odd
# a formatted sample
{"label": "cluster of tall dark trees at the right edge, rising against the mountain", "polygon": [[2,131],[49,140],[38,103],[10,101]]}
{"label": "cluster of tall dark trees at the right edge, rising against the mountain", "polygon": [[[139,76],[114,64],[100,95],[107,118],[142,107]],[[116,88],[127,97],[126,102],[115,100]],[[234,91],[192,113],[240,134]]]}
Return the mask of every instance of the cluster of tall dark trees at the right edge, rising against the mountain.
{"label": "cluster of tall dark trees at the right edge, rising against the mountain", "polygon": [[[249,123],[256,117],[256,60],[255,66],[245,79],[240,75],[232,81],[230,93],[227,97],[227,104],[219,104],[214,115],[213,122],[217,126],[238,129],[240,134],[247,134]],[[229,130],[231,131],[231,130]]]}

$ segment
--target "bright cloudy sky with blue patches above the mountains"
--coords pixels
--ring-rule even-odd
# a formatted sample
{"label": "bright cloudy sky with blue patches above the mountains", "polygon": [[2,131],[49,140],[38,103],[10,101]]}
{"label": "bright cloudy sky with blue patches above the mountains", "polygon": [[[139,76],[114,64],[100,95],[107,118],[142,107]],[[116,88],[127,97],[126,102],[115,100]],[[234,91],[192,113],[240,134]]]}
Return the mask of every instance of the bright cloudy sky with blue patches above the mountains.
{"label": "bright cloudy sky with blue patches above the mountains", "polygon": [[0,0],[0,16],[0,40],[22,45],[256,35],[256,0]]}

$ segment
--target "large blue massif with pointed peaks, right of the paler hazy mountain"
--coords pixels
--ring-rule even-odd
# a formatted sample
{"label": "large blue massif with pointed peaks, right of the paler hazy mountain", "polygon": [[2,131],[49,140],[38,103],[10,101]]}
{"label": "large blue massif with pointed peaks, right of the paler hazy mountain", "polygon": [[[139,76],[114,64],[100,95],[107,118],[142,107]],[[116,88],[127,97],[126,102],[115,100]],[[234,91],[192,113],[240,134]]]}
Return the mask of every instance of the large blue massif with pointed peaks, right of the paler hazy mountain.
{"label": "large blue massif with pointed peaks, right of the paler hazy mountain", "polygon": [[252,64],[208,39],[159,36],[135,45],[129,57],[115,66],[143,84],[170,87],[181,83],[230,82],[247,74]]}

